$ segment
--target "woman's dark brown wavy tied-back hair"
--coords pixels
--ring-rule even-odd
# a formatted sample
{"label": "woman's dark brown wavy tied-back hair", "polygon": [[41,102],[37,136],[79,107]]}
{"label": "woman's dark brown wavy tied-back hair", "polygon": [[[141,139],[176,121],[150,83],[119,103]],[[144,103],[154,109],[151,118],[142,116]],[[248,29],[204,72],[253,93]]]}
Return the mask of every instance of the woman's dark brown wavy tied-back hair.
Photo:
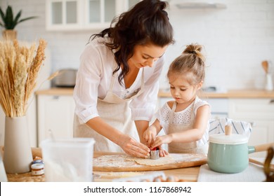
{"label": "woman's dark brown wavy tied-back hair", "polygon": [[97,36],[110,37],[110,43],[105,45],[115,51],[115,61],[118,64],[113,73],[123,65],[119,74],[119,83],[122,83],[122,79],[129,72],[127,61],[132,57],[135,45],[153,44],[164,47],[174,43],[173,28],[164,10],[166,7],[165,1],[140,1],[131,10],[112,20],[110,28],[91,36],[91,40]]}

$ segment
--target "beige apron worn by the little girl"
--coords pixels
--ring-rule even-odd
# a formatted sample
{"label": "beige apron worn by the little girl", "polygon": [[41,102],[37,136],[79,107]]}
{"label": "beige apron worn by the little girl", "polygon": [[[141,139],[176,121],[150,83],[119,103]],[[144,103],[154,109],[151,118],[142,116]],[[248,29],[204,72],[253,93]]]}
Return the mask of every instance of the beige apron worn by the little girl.
{"label": "beige apron worn by the little girl", "polygon": [[[174,102],[172,106],[172,112],[169,114],[169,130],[167,134],[178,133],[178,132],[185,132],[186,130],[193,129],[193,124],[195,120],[194,116],[194,103],[192,106],[192,111],[190,112],[190,124],[183,125],[183,124],[174,124],[174,113],[176,109],[177,103]],[[170,143],[168,145],[169,153],[200,153],[200,154],[207,154],[208,145],[205,144],[204,146],[197,146],[197,141],[192,141],[188,143]]]}

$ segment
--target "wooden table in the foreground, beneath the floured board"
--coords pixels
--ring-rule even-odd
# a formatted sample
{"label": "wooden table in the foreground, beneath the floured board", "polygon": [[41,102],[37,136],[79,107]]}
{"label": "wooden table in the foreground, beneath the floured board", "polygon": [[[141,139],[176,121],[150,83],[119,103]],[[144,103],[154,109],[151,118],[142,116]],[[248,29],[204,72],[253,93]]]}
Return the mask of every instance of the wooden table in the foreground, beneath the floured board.
{"label": "wooden table in the foreground, beneath the floured board", "polygon": [[[115,153],[94,152],[93,157],[96,158],[101,155],[113,155]],[[41,158],[41,149],[32,148],[32,156]],[[197,181],[200,167],[187,167],[180,169],[163,170],[166,176],[177,176],[181,181],[193,182]],[[152,171],[153,172],[153,171]],[[160,172],[160,171],[157,171]],[[119,179],[129,176],[138,176],[141,174],[150,174],[151,172],[93,172],[95,182],[112,181],[112,179]],[[32,176],[31,172],[25,174],[7,174],[8,181],[11,182],[44,182],[45,176]]]}

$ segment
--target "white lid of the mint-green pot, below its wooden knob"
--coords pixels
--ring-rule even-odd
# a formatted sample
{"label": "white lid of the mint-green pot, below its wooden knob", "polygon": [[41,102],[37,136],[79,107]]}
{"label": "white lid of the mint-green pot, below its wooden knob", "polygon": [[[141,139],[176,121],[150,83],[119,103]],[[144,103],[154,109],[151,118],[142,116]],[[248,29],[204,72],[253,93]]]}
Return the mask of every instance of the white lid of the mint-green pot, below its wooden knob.
{"label": "white lid of the mint-green pot, below its wooden knob", "polygon": [[215,144],[246,144],[248,137],[242,134],[213,134],[209,136],[209,142]]}

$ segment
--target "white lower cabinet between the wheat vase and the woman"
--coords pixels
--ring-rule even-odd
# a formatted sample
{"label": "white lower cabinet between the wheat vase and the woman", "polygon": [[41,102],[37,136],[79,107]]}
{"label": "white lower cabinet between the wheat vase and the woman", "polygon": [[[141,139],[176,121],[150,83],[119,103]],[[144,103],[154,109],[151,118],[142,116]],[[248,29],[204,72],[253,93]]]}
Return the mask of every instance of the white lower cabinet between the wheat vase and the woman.
{"label": "white lower cabinet between the wheat vase and the woman", "polygon": [[74,99],[72,95],[37,95],[38,144],[50,138],[73,137]]}

